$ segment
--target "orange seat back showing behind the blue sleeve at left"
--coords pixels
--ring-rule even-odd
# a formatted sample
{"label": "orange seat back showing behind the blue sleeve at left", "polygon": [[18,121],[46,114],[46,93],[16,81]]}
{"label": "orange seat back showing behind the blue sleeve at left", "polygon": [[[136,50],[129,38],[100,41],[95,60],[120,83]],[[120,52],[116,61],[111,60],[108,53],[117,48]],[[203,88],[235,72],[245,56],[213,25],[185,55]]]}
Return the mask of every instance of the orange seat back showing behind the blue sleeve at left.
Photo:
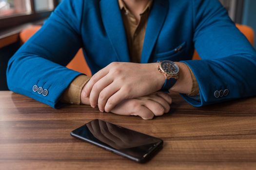
{"label": "orange seat back showing behind the blue sleeve at left", "polygon": [[[26,29],[24,29],[21,33],[20,33],[20,40],[21,43],[26,42],[33,34],[35,34],[39,29],[41,28],[41,26],[31,26],[28,27]],[[91,70],[88,67],[84,56],[83,56],[83,52],[82,49],[80,49],[78,51],[78,53],[76,54],[76,56],[70,61],[70,63],[66,66],[67,68],[79,71],[81,73],[84,73],[88,76],[91,76]]]}

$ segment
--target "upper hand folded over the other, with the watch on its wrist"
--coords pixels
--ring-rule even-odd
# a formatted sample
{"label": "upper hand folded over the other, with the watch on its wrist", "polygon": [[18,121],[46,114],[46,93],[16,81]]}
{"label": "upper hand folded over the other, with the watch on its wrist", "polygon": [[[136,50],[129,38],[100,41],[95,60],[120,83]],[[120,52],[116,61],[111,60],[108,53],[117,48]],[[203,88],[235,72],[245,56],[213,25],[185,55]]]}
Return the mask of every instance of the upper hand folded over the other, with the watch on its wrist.
{"label": "upper hand folded over the other, with the watch on its wrist", "polygon": [[165,78],[158,63],[137,64],[113,62],[99,70],[83,87],[84,98],[101,112],[110,112],[125,99],[138,98],[161,89]]}

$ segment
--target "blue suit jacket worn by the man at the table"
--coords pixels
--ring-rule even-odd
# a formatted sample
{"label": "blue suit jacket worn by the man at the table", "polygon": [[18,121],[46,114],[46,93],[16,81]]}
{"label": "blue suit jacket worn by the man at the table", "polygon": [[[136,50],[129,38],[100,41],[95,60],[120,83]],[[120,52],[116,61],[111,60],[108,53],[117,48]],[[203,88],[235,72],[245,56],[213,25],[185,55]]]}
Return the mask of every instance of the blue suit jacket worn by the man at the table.
{"label": "blue suit jacket worn by the man at the table", "polygon": [[[59,107],[61,94],[81,74],[65,68],[81,47],[93,74],[114,61],[130,62],[118,0],[61,2],[10,59],[10,90]],[[191,60],[194,48],[202,60]],[[218,0],[154,0],[141,63],[157,60],[182,61],[193,70],[200,100],[182,96],[194,106],[256,95],[256,51]],[[34,92],[34,85],[48,95]],[[225,89],[228,95],[216,98],[215,91]]]}

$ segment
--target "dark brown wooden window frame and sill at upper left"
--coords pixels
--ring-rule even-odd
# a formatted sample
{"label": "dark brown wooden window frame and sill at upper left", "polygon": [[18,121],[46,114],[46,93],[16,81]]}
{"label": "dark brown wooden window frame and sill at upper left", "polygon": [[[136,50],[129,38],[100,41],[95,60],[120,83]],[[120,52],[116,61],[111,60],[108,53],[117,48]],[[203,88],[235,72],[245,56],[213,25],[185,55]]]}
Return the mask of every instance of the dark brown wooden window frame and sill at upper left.
{"label": "dark brown wooden window frame and sill at upper left", "polygon": [[[53,0],[53,2],[54,2],[54,8],[56,8],[57,5],[59,4],[59,0]],[[11,27],[16,27],[28,22],[35,22],[37,20],[47,18],[53,11],[53,10],[44,10],[44,11],[36,12],[34,0],[30,0],[30,4],[31,4],[31,13],[29,14],[26,14],[26,13],[14,14],[11,16],[0,18],[0,31],[6,30]]]}

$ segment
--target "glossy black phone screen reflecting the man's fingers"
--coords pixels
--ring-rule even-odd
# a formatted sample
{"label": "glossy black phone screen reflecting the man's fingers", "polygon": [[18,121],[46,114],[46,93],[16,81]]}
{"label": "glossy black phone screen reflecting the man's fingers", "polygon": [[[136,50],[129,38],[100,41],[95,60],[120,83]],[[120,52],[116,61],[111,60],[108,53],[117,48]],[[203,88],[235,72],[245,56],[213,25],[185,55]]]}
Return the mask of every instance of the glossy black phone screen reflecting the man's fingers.
{"label": "glossy black phone screen reflecting the man's fingers", "polygon": [[74,133],[135,157],[142,157],[152,147],[161,142],[156,137],[141,134],[99,119],[76,129]]}

